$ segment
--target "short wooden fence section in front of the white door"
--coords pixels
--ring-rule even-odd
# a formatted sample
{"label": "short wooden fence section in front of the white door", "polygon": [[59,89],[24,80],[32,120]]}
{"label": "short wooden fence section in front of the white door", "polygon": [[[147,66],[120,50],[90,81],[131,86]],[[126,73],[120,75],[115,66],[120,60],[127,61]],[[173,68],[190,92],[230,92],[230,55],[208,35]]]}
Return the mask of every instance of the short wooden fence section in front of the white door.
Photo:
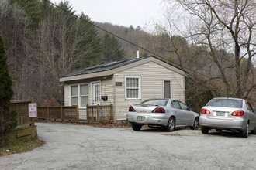
{"label": "short wooden fence section in front of the white door", "polygon": [[86,106],[87,121],[88,122],[113,122],[112,104],[106,106]]}

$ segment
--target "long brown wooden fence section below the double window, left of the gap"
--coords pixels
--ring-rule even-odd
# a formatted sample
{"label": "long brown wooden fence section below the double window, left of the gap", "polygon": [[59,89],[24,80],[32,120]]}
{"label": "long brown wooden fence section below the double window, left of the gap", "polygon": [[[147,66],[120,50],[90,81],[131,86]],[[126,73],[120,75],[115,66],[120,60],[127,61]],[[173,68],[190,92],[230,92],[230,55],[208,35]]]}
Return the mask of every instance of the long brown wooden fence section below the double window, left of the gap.
{"label": "long brown wooden fence section below the double window, left of the gap", "polygon": [[37,107],[37,119],[51,121],[78,121],[78,106]]}

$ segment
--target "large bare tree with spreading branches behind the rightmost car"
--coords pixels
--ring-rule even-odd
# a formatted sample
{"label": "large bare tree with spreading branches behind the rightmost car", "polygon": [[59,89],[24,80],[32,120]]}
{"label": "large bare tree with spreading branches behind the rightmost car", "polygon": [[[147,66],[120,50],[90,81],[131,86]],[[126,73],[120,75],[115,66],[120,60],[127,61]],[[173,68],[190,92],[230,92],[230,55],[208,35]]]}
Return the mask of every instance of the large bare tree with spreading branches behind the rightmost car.
{"label": "large bare tree with spreading branches behind the rightmost car", "polygon": [[[247,98],[256,88],[256,3],[254,0],[177,0],[192,15],[185,33],[195,44],[208,46],[229,97]],[[220,51],[234,53],[234,63],[223,65]],[[243,64],[242,64],[243,63]],[[232,73],[231,73],[232,72]],[[231,79],[234,77],[234,81]]]}

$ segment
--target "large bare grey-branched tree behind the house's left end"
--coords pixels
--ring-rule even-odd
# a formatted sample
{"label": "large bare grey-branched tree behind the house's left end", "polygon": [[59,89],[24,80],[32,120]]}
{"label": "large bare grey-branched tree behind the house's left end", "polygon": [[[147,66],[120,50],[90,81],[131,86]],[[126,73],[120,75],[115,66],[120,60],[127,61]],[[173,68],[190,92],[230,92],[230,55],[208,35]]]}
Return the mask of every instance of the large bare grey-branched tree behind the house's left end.
{"label": "large bare grey-branched tree behind the house's left end", "polygon": [[[82,16],[85,17],[85,16]],[[92,61],[97,37],[93,27],[66,12],[52,9],[40,22],[36,36],[26,43],[26,54],[36,81],[33,89],[38,100],[54,99],[63,104],[63,87],[59,78],[85,68]],[[91,39],[88,38],[91,36]],[[93,39],[95,38],[95,39]]]}

